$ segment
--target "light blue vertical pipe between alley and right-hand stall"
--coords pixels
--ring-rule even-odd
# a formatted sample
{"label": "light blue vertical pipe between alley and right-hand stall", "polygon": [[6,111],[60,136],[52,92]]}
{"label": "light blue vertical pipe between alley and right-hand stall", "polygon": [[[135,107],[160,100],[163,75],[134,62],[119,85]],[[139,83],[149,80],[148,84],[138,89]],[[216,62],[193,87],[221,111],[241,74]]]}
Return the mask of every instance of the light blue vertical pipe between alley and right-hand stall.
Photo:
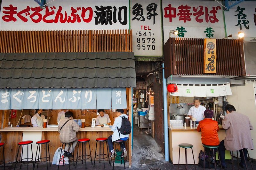
{"label": "light blue vertical pipe between alley and right-hand stall", "polygon": [[166,79],[164,78],[164,63],[163,63],[163,100],[164,100],[164,153],[165,161],[169,161],[169,137],[168,137],[168,115],[167,115],[167,87]]}

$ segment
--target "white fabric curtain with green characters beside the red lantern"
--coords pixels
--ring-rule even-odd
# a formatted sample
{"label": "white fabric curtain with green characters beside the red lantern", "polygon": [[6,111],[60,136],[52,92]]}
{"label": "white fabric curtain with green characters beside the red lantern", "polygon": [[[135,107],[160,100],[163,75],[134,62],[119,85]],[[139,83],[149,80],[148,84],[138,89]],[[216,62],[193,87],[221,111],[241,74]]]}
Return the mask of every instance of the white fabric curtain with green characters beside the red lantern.
{"label": "white fabric curtain with green characters beside the red lantern", "polygon": [[232,95],[230,84],[227,85],[177,85],[178,91],[171,96],[183,97],[219,97]]}

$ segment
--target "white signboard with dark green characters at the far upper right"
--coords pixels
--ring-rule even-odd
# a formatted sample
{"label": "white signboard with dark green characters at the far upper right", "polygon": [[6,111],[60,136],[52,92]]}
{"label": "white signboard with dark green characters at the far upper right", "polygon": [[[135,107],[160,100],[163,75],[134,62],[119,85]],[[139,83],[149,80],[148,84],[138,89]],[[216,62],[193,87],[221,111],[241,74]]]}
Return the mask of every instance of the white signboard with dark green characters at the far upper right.
{"label": "white signboard with dark green characters at the far upper right", "polygon": [[244,40],[256,38],[256,2],[244,1],[224,12],[227,35],[238,38],[238,32],[244,33]]}

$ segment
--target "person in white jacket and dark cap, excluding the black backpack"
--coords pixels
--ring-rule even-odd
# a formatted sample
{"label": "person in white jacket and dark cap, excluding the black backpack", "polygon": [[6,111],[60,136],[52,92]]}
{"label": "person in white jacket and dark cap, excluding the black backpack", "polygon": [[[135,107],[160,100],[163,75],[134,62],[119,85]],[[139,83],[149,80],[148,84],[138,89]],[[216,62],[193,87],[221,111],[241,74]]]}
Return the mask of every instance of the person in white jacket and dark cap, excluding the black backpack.
{"label": "person in white jacket and dark cap, excluding the black backpack", "polygon": [[[122,117],[124,116],[125,118],[128,119],[128,116],[126,114],[124,114],[124,109],[117,109],[116,112],[117,112],[117,117],[114,119],[115,121],[114,121],[114,124],[111,128],[111,130],[113,131],[113,134],[108,137],[108,148],[109,148],[109,152],[111,152],[110,158],[113,158],[114,155],[115,155],[114,143],[113,142],[116,141],[116,140],[119,140],[119,139],[121,139],[123,141],[126,141],[129,137],[129,135],[123,135],[122,133],[119,133],[119,131],[118,131],[118,129],[120,129],[121,126],[122,126]],[[122,143],[122,145],[123,145],[123,148],[124,148],[124,155],[123,156],[126,157],[127,156],[127,151],[125,149],[124,142]]]}

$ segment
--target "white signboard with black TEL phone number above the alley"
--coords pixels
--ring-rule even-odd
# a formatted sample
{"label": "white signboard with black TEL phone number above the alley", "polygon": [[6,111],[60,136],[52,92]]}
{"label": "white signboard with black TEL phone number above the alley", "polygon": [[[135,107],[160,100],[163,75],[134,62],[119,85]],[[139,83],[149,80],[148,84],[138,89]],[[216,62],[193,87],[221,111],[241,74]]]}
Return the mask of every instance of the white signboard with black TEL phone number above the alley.
{"label": "white signboard with black TEL phone number above the alley", "polygon": [[131,0],[132,49],[135,56],[162,56],[160,0]]}

